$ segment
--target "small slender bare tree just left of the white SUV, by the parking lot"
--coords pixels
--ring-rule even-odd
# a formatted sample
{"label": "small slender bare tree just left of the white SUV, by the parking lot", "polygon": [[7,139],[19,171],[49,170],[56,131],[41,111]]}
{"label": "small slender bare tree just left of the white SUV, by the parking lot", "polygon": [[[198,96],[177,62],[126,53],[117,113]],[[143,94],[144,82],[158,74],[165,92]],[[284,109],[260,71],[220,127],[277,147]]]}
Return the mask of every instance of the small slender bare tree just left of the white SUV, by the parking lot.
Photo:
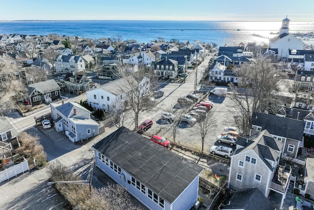
{"label": "small slender bare tree just left of the white SUV, by the parking lot", "polygon": [[217,128],[217,121],[213,117],[212,112],[207,112],[207,115],[200,115],[198,122],[195,125],[197,127],[197,134],[201,136],[202,151],[204,151],[205,138]]}

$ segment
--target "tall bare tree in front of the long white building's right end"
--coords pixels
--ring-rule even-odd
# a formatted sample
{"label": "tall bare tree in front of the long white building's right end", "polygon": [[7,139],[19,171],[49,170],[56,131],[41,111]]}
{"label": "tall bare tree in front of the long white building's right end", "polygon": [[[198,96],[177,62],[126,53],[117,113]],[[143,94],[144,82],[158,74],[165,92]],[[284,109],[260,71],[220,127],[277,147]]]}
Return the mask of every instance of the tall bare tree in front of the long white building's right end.
{"label": "tall bare tree in front of the long white building's right end", "polygon": [[153,75],[148,74],[146,69],[141,67],[135,69],[132,66],[121,66],[118,69],[118,76],[122,81],[117,88],[125,94],[125,101],[128,102],[126,109],[133,112],[135,129],[137,129],[141,112],[157,110],[156,103],[151,100]]}

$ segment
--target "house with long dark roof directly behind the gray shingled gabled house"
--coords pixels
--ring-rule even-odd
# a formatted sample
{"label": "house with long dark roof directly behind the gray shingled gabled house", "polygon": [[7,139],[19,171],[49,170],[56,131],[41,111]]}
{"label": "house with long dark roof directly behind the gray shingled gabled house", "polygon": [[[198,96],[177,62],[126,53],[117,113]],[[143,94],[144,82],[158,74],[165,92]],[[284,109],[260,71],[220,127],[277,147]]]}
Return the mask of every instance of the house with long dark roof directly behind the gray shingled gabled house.
{"label": "house with long dark roof directly behind the gray shingled gabled house", "polygon": [[251,134],[267,130],[284,144],[283,156],[296,158],[303,139],[305,121],[283,118],[276,115],[253,113]]}

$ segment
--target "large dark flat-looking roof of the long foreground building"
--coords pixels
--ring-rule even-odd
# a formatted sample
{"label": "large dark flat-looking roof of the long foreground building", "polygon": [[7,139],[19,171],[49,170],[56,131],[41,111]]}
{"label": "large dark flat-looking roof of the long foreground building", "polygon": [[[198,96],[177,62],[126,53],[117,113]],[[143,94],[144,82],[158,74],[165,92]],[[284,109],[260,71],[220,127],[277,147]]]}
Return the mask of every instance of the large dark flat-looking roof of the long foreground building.
{"label": "large dark flat-looking roof of the long foreground building", "polygon": [[173,203],[203,168],[121,127],[93,146],[132,177]]}

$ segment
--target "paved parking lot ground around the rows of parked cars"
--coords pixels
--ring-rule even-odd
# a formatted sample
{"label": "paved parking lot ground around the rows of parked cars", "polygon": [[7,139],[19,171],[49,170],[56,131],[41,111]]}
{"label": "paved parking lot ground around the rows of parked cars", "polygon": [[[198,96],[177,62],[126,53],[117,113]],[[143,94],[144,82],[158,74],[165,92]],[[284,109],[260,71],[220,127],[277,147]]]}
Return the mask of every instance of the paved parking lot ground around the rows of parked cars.
{"label": "paved parking lot ground around the rows of parked cars", "polygon": [[[177,86],[177,87],[174,87]],[[158,111],[157,112],[142,112],[140,115],[140,122],[146,119],[152,119],[154,124],[148,129],[148,133],[158,134],[173,141],[173,130],[171,122],[165,123],[165,120],[161,119],[161,112],[173,112],[176,113],[177,99],[185,96],[190,92],[186,92],[185,89],[181,89],[178,84],[168,84],[162,87],[160,90],[164,91],[164,95],[157,99]],[[204,93],[197,93],[199,97],[203,97]],[[211,113],[211,119],[213,120],[212,127],[209,129],[209,134],[205,139],[204,151],[209,152],[209,149],[213,145],[224,145],[230,147],[228,144],[216,142],[216,137],[221,135],[225,126],[234,125],[233,115],[229,111],[230,99],[224,96],[209,95],[205,100],[210,100],[214,103],[213,108],[209,111]],[[188,111],[187,111],[188,112]],[[180,142],[186,146],[192,147],[196,150],[201,150],[202,141],[201,134],[198,128],[198,122],[194,125],[189,125],[187,122],[181,122],[178,125],[176,132],[176,142]]]}

